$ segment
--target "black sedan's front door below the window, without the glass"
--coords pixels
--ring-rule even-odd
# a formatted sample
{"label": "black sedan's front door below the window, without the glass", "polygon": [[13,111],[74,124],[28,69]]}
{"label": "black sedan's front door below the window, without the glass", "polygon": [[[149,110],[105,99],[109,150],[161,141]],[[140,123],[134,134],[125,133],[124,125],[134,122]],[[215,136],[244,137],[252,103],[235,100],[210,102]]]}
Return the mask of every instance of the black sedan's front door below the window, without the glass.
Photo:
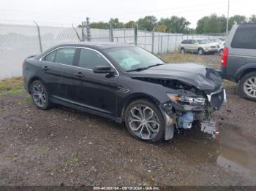
{"label": "black sedan's front door below the window, without the glass", "polygon": [[117,76],[95,74],[91,70],[77,69],[84,77],[76,78],[76,91],[72,98],[89,109],[114,115],[116,113]]}

